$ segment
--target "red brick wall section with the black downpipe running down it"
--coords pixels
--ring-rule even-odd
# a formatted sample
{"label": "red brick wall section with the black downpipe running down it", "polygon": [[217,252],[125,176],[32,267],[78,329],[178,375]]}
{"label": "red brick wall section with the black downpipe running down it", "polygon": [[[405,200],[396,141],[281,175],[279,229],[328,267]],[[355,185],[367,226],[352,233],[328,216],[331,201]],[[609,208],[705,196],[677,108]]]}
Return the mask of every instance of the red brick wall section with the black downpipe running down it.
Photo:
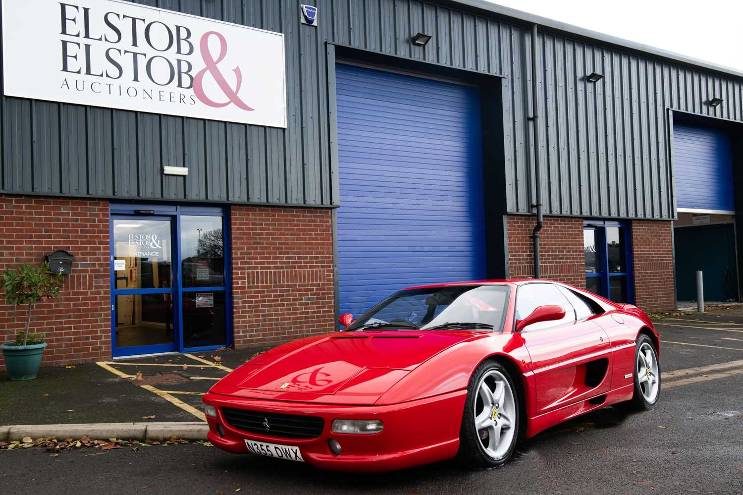
{"label": "red brick wall section with the black downpipe running down it", "polygon": [[[534,275],[531,232],[536,216],[507,217],[508,261],[513,278]],[[585,288],[583,219],[545,216],[539,232],[539,259],[542,277]]]}

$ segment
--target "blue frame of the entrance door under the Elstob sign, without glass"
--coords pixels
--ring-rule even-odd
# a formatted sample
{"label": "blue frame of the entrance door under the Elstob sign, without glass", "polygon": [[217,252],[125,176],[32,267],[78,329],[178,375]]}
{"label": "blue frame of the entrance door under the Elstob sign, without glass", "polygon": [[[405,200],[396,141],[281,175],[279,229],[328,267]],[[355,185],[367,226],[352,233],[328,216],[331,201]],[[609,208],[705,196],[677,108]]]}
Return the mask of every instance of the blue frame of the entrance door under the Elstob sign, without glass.
{"label": "blue frame of the entrance door under the Elstob sign, without glass", "polygon": [[[232,279],[230,259],[230,224],[229,216],[221,207],[181,206],[175,204],[114,204],[110,205],[111,218],[108,221],[109,272],[111,283],[111,355],[124,357],[135,355],[160,354],[163,352],[199,352],[220,347],[232,346],[233,340],[233,311],[232,311]],[[145,213],[146,214],[143,214]],[[181,216],[218,216],[222,219],[222,234],[224,236],[224,286],[220,287],[183,287],[181,278]],[[171,226],[171,259],[172,283],[170,288],[154,289],[117,289],[114,271],[114,220],[169,220]],[[216,346],[185,347],[183,334],[183,294],[189,292],[220,292],[224,291],[224,344]],[[116,296],[127,294],[172,294],[173,323],[175,342],[152,346],[116,346]]]}

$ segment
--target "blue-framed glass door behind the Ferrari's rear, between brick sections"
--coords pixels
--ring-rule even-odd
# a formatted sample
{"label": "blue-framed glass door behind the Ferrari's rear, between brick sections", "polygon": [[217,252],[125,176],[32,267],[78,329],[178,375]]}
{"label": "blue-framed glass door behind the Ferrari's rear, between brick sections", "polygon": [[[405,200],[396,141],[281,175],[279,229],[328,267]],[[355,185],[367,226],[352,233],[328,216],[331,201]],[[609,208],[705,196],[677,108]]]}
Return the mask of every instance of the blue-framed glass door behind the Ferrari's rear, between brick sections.
{"label": "blue-framed glass door behind the Ferrari's rear, between brick sections", "polygon": [[632,302],[629,230],[618,221],[586,221],[583,227],[585,288],[614,302]]}

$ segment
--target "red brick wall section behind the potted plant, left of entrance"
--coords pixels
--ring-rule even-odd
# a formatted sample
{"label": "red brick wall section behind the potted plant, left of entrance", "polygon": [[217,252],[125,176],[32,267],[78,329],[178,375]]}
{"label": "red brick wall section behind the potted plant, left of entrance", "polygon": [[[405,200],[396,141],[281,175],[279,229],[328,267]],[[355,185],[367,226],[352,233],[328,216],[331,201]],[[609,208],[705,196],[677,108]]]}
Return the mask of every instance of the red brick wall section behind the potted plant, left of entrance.
{"label": "red brick wall section behind the potted plant, left of entrance", "polygon": [[[32,331],[49,344],[44,366],[111,357],[108,246],[108,201],[0,195],[0,273],[42,263],[55,249],[75,256],[59,297],[33,308]],[[0,341],[13,340],[25,320],[25,307],[0,300]]]}

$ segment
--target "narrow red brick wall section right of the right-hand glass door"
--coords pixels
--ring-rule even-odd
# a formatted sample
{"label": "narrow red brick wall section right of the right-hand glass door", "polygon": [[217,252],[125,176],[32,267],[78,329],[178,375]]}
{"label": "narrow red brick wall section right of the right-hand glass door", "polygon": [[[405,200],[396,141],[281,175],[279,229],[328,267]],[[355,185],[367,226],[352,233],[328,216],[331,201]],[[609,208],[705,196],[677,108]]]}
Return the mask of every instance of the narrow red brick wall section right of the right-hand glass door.
{"label": "narrow red brick wall section right of the right-hand glass door", "polygon": [[672,223],[632,221],[635,302],[645,311],[675,308]]}

